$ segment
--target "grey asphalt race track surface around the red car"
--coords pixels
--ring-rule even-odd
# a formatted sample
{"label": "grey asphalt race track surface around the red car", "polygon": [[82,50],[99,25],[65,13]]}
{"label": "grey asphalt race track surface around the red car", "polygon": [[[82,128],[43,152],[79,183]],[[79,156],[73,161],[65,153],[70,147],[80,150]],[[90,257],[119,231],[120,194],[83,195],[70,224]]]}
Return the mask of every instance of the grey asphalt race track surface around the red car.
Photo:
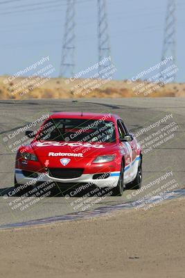
{"label": "grey asphalt race track surface around the red car", "polygon": [[184,98],[10,100],[0,101],[0,108],[0,225],[52,218],[80,211],[80,208],[74,208],[79,197],[69,199],[62,195],[45,197],[24,211],[13,208],[17,197],[7,197],[14,183],[16,153],[14,147],[18,146],[19,136],[24,136],[24,133],[16,135],[15,131],[47,113],[83,111],[118,114],[130,131],[137,134],[143,146],[143,189],[141,188],[141,192],[137,194],[136,190],[125,190],[122,197],[106,197],[93,204],[90,209],[133,202],[141,197],[148,197],[150,193],[153,196],[153,190],[157,192],[157,189],[159,190],[159,187],[161,188],[167,182],[169,182],[168,186],[164,186],[158,192],[184,188]]}

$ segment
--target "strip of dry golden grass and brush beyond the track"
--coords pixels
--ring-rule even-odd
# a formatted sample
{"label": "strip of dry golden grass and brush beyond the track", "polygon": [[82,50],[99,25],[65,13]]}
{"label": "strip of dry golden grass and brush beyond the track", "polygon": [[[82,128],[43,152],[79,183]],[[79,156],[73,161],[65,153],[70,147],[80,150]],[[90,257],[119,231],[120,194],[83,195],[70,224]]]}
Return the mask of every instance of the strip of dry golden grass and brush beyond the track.
{"label": "strip of dry golden grass and brush beyond the track", "polygon": [[[54,98],[54,99],[76,99],[81,97],[185,97],[185,83],[169,83],[164,85],[157,90],[152,90],[148,95],[144,95],[143,92],[136,94],[138,90],[133,90],[134,87],[141,85],[142,81],[137,81],[132,84],[127,84],[127,81],[109,81],[102,85],[100,81],[91,79],[77,79],[76,81],[69,82],[67,85],[67,79],[50,79],[43,85],[39,85],[37,88],[31,88],[31,86],[26,86],[28,92],[25,95],[21,95],[24,89],[21,85],[19,92],[15,88],[16,84],[20,84],[25,81],[25,78],[17,78],[15,81],[8,81],[4,83],[4,80],[8,80],[8,76],[0,77],[0,99],[42,99],[42,98]],[[30,79],[34,81],[34,79]],[[98,85],[98,88],[92,88],[88,82],[94,81]],[[85,83],[87,86],[84,89]],[[154,87],[155,84],[147,83],[146,85]],[[74,88],[76,86],[76,88]],[[13,89],[12,91],[10,91]],[[82,90],[78,92],[78,90]],[[84,92],[84,95],[82,94]]]}

